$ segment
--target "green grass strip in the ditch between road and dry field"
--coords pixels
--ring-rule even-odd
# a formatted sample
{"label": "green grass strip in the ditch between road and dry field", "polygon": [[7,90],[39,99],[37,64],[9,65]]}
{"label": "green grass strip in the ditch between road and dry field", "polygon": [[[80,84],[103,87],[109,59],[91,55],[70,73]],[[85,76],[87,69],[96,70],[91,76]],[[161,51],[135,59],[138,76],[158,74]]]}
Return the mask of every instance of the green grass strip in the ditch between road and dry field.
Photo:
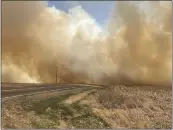
{"label": "green grass strip in the ditch between road and dry field", "polygon": [[64,102],[74,94],[76,93],[67,93],[33,103],[27,110],[34,111],[40,120],[33,120],[32,126],[34,128],[58,128],[58,120],[64,120],[74,128],[109,128],[108,124],[94,115],[87,105]]}

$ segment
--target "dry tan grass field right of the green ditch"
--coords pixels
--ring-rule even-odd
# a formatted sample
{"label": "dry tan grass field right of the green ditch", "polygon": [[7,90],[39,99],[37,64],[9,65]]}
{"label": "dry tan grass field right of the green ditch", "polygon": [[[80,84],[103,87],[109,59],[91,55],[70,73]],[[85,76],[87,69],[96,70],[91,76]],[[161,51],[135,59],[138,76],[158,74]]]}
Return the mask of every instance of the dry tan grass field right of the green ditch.
{"label": "dry tan grass field right of the green ditch", "polygon": [[171,128],[172,92],[116,86],[80,102],[92,107],[112,128]]}

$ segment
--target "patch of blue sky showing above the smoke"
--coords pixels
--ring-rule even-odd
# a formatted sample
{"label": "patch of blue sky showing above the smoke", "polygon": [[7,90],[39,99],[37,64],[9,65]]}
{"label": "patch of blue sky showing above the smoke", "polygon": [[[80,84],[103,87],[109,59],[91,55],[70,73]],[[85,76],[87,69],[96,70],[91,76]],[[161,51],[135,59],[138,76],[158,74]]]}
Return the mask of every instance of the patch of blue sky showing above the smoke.
{"label": "patch of blue sky showing above the smoke", "polygon": [[68,12],[69,8],[81,5],[97,23],[104,26],[110,17],[110,12],[115,1],[48,1],[48,6],[55,6],[57,9]]}

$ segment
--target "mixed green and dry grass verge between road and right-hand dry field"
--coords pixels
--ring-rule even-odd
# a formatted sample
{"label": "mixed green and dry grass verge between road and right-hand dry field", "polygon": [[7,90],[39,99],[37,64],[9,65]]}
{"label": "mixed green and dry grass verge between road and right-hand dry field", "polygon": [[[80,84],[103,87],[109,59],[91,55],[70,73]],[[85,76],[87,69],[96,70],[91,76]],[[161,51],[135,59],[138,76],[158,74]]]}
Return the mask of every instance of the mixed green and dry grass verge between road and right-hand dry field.
{"label": "mixed green and dry grass verge between road and right-hand dry field", "polygon": [[[91,89],[91,88],[90,88]],[[3,128],[109,128],[91,108],[80,105],[86,90],[52,95],[53,97],[23,97],[4,101],[2,108]],[[77,96],[74,97],[74,95]],[[50,96],[50,95],[49,95]],[[75,99],[75,100],[73,100]]]}

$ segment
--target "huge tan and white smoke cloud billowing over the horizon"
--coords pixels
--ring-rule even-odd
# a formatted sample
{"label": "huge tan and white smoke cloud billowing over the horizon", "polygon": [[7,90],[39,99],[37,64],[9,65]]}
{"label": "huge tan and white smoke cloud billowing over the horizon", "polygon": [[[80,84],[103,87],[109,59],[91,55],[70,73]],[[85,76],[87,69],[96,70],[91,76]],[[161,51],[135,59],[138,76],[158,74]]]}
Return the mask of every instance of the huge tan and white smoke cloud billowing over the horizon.
{"label": "huge tan and white smoke cloud billowing over the horizon", "polygon": [[107,32],[80,6],[3,1],[2,81],[171,85],[171,1],[115,6]]}

